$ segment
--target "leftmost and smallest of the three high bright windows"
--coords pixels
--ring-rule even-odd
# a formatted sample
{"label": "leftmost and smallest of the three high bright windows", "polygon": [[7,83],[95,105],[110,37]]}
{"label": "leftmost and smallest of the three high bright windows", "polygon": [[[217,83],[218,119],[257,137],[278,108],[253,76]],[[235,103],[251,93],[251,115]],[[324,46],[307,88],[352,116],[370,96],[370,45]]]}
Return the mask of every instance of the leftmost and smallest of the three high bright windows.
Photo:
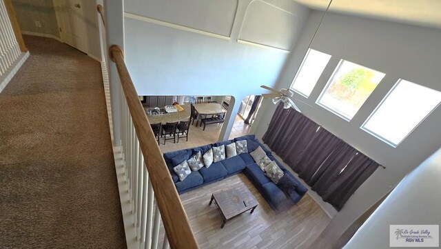
{"label": "leftmost and smallest of the three high bright windows", "polygon": [[329,59],[331,59],[331,55],[309,48],[294,81],[291,83],[291,89],[309,97]]}

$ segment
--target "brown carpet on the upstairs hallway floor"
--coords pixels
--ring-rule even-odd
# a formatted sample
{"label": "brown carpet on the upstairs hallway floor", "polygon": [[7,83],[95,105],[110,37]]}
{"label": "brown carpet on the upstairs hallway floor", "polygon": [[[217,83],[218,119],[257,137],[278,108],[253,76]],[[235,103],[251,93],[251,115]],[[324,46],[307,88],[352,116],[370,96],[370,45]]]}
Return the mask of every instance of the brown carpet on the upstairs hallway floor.
{"label": "brown carpet on the upstairs hallway floor", "polygon": [[0,94],[0,248],[125,248],[100,64],[24,38]]}

